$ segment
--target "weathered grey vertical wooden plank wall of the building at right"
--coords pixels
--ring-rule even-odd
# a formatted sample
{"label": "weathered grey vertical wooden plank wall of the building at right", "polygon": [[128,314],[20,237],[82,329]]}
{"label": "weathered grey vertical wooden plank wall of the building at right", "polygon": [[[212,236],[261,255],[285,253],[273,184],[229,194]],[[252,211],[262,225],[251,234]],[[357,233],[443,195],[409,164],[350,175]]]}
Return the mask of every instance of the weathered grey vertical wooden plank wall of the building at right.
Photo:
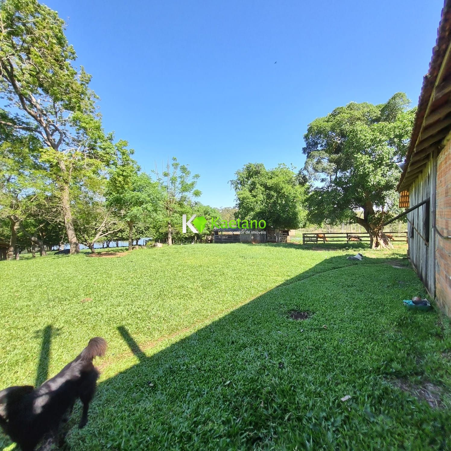
{"label": "weathered grey vertical wooden plank wall of the building at right", "polygon": [[[410,207],[413,207],[417,203],[431,198],[433,199],[433,193],[435,192],[435,179],[436,175],[433,174],[433,157],[428,162],[428,165],[423,169],[419,177],[415,180],[414,184],[410,187]],[[432,205],[432,202],[431,202]],[[423,239],[419,236],[416,230],[413,230],[413,238],[410,238],[410,232],[412,226],[410,223],[407,225],[407,236],[409,237],[409,249],[410,259],[415,267],[419,278],[423,281],[430,295],[435,296],[435,233],[432,227],[429,230],[424,230],[423,220],[424,212],[427,204],[417,208],[413,212],[410,212],[407,217],[410,222],[414,223],[415,228],[423,235],[423,237],[429,239],[429,245],[426,245]],[[434,224],[432,212],[429,208],[429,223],[430,226]],[[412,294],[417,295],[416,293]]]}

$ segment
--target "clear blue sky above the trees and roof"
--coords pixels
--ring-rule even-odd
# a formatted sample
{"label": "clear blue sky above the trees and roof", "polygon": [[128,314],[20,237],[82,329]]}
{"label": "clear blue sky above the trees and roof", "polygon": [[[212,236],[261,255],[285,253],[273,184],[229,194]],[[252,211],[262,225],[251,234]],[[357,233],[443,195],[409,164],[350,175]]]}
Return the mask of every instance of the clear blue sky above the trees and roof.
{"label": "clear blue sky above the trees and roof", "polygon": [[[45,1],[45,0],[44,0]],[[232,206],[247,162],[304,164],[313,119],[350,101],[417,103],[442,0],[47,0],[92,74],[107,131],[149,172],[168,156]],[[277,61],[277,64],[274,64]]]}

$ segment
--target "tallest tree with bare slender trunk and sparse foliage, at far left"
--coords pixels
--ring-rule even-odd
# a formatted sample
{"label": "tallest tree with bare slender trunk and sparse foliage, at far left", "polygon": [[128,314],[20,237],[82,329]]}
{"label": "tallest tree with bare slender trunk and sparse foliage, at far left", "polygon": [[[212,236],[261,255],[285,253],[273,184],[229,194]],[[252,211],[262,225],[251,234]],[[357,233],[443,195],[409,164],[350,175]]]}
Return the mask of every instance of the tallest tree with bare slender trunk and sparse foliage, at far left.
{"label": "tallest tree with bare slender trunk and sparse foliage, at far left", "polygon": [[0,124],[41,142],[60,200],[70,252],[79,252],[70,188],[110,160],[91,76],[76,55],[58,14],[36,0],[0,2]]}

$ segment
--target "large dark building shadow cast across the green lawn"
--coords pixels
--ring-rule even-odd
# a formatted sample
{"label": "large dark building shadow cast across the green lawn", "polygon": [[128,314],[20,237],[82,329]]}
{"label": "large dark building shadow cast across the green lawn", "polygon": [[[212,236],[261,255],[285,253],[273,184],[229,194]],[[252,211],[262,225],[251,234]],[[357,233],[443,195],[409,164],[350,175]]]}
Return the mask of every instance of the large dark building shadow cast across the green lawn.
{"label": "large dark building shadow cast across the green lawn", "polygon": [[[413,426],[406,425],[413,401],[387,382],[424,377],[429,367],[419,357],[444,338],[434,330],[437,313],[402,306],[422,290],[414,272],[385,260],[326,259],[200,329],[171,336],[179,341],[153,355],[161,341],[136,343],[125,322],[118,331],[139,363],[99,384],[87,429],[71,437],[74,449],[448,443],[450,411],[417,402]],[[295,321],[290,310],[313,314]],[[414,426],[423,423],[429,427]]]}

